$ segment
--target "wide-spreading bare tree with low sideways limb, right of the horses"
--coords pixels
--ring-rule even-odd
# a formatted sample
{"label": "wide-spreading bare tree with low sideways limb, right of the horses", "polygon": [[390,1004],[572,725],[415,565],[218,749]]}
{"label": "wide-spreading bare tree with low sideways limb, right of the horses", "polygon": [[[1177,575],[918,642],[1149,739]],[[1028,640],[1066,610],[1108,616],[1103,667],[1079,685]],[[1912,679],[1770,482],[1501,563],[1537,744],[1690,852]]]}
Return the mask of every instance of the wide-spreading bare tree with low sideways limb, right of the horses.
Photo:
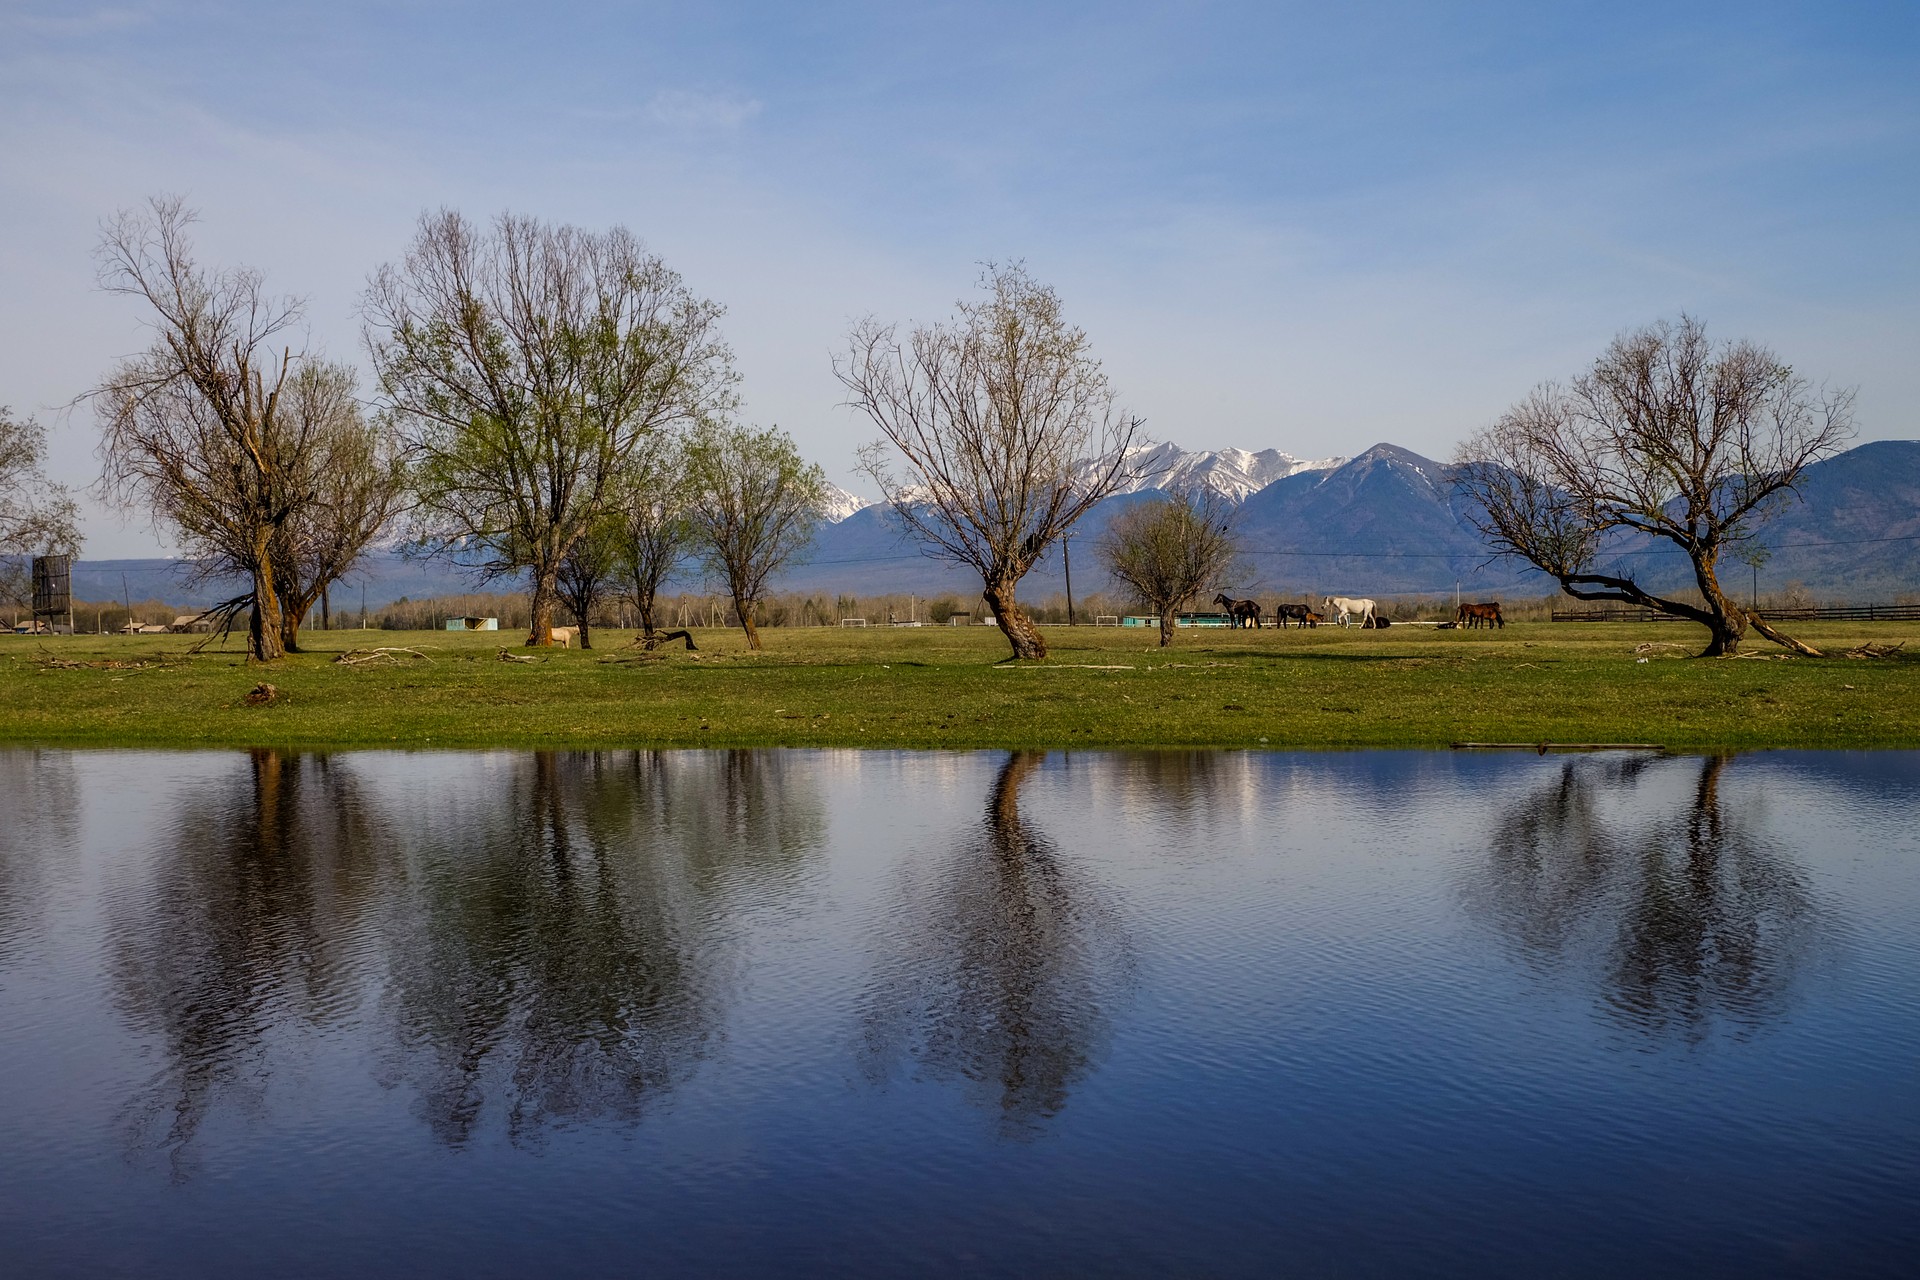
{"label": "wide-spreading bare tree with low sideways limb, right of the horses", "polygon": [[[1716,347],[1682,317],[1622,334],[1571,386],[1542,384],[1473,436],[1461,445],[1461,487],[1488,543],[1551,574],[1567,595],[1697,622],[1709,631],[1701,656],[1740,652],[1749,624],[1814,654],[1741,608],[1716,566],[1851,432],[1853,391],[1812,388],[1751,342]],[[1622,566],[1601,572],[1617,532],[1684,551],[1701,603],[1647,591]]]}

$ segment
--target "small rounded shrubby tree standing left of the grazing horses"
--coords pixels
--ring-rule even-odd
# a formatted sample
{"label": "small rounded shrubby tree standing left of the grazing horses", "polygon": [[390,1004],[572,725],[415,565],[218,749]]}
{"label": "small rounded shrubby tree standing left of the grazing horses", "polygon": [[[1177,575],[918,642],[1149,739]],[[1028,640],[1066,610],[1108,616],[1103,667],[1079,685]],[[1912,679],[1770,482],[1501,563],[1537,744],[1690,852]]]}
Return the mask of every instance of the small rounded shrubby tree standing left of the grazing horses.
{"label": "small rounded shrubby tree standing left of the grazing horses", "polygon": [[1208,487],[1179,489],[1114,516],[1100,558],[1160,618],[1160,645],[1173,643],[1173,614],[1233,570],[1238,549],[1233,507]]}

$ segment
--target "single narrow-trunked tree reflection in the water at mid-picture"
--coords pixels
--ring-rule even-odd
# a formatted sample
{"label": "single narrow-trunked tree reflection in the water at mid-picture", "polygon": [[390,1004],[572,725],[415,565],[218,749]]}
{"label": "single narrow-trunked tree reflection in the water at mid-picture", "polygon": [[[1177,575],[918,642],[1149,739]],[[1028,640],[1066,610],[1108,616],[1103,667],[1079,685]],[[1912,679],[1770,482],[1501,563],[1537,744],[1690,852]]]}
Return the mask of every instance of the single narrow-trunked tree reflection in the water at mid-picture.
{"label": "single narrow-trunked tree reflection in the water at mid-picture", "polygon": [[1016,1138],[1092,1069],[1133,967],[1117,912],[1020,814],[1044,758],[1012,754],[983,827],[935,885],[906,885],[862,1019],[876,1082],[902,1059],[966,1080]]}

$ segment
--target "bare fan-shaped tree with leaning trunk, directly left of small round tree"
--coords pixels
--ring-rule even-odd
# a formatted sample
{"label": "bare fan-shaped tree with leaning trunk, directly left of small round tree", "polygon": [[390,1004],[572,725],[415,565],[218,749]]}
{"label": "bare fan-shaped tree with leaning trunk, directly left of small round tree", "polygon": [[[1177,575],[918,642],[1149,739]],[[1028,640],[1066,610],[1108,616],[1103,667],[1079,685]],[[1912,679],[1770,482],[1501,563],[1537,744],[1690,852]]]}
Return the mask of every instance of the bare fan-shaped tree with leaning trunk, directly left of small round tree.
{"label": "bare fan-shaped tree with leaning trunk, directly left of small round tree", "polygon": [[[862,320],[833,372],[883,439],[862,470],[929,555],[979,572],[1016,658],[1046,641],[1016,601],[1020,580],[1127,480],[1140,418],[1119,409],[1087,334],[1020,265],[989,265],[985,297],[914,328]],[[889,451],[891,445],[891,451]],[[904,459],[897,474],[891,453]]]}

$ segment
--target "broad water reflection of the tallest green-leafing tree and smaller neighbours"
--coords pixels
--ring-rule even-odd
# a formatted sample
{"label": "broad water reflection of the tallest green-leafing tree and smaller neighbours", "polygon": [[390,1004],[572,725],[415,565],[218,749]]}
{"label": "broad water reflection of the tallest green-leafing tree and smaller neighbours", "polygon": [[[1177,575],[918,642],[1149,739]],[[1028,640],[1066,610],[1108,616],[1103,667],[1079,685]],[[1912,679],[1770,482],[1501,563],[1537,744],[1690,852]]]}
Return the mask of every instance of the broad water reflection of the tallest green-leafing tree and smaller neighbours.
{"label": "broad water reflection of the tallest green-leafing tree and smaller neighbours", "polygon": [[637,1121],[716,1034],[728,873],[785,867],[822,829],[766,752],[518,762],[397,904],[401,1071],[432,1128],[463,1144],[490,1100],[515,1142]]}

